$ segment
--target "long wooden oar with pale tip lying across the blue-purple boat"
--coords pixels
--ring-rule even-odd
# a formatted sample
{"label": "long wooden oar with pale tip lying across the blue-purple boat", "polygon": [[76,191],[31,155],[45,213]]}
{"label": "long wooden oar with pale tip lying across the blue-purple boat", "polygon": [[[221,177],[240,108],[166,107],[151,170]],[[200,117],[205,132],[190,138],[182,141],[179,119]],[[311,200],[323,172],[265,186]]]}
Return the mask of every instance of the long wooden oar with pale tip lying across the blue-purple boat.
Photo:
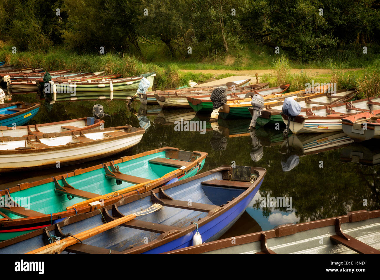
{"label": "long wooden oar with pale tip lying across the blue-purple boat", "polygon": [[61,253],[63,250],[65,250],[65,248],[78,243],[79,240],[81,240],[81,241],[86,240],[86,239],[88,239],[90,237],[93,237],[93,236],[95,236],[97,234],[100,234],[101,232],[105,232],[108,229],[112,229],[112,228],[115,228],[116,226],[120,226],[120,224],[127,223],[128,221],[133,220],[137,216],[147,215],[147,214],[150,214],[152,212],[155,212],[158,209],[161,209],[161,207],[162,207],[161,204],[155,203],[155,204],[153,204],[152,206],[150,206],[149,208],[147,208],[147,209],[145,209],[143,211],[140,211],[140,212],[137,212],[137,213],[134,213],[134,214],[130,214],[130,215],[124,216],[122,218],[116,219],[116,220],[111,221],[109,223],[102,224],[102,225],[97,226],[97,227],[92,228],[92,229],[88,229],[87,231],[82,231],[82,232],[80,232],[80,233],[78,233],[76,235],[69,236],[69,237],[67,237],[65,239],[60,240],[59,243],[57,243],[57,242],[51,243],[51,244],[46,245],[44,247],[41,247],[41,248],[35,249],[33,251],[30,251],[27,254],[54,254],[54,253]]}

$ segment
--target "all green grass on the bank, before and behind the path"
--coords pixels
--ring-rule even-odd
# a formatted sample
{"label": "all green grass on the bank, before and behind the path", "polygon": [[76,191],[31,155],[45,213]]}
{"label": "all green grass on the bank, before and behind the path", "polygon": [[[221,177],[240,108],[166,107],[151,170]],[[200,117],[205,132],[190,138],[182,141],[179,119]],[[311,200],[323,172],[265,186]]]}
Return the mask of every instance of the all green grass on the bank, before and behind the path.
{"label": "all green grass on the bank, before and behind the path", "polygon": [[[268,81],[270,86],[279,86],[290,83],[290,91],[301,90],[307,82],[337,83],[337,88],[358,87],[359,97],[369,97],[380,94],[380,57],[369,54],[366,59],[358,60],[356,52],[332,54],[320,61],[309,64],[292,61],[286,55],[270,54],[268,49],[245,46],[239,52],[226,55],[213,55],[201,60],[196,56],[185,59],[170,60],[165,48],[159,43],[152,48],[146,47],[142,51],[144,56],[129,56],[123,53],[107,54],[76,54],[61,48],[50,48],[47,51],[25,51],[12,54],[11,45],[0,42],[0,61],[15,64],[17,67],[43,67],[46,70],[70,68],[74,72],[105,71],[105,75],[122,74],[124,77],[140,75],[141,73],[156,72],[153,89],[177,88],[187,85],[190,80],[204,83],[211,79],[221,79],[233,76],[229,70],[274,69],[274,76],[264,75],[260,82]],[[157,52],[152,52],[156,49]],[[194,50],[196,51],[196,50]],[[155,55],[154,55],[155,54]],[[344,56],[345,54],[345,56]],[[340,62],[334,57],[340,55],[350,58],[353,62]],[[149,62],[148,62],[149,60]],[[344,68],[358,67],[361,63],[363,69],[345,71]],[[326,68],[328,74],[290,73],[291,68]],[[181,72],[180,69],[191,70],[225,70],[227,73],[214,76],[211,73]]]}

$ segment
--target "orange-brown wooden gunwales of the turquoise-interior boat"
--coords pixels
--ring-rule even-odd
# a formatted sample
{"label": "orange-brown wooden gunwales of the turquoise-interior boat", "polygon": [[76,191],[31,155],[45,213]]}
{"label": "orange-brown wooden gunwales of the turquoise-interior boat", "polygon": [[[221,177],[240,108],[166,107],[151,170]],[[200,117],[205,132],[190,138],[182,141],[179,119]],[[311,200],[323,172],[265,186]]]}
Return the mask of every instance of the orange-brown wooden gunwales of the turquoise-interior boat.
{"label": "orange-brown wooden gunwales of the turquoise-interior boat", "polygon": [[[169,152],[169,151],[177,151],[178,152],[180,150],[178,148],[163,147],[163,148],[158,148],[158,149],[151,150],[151,151],[146,151],[144,153],[135,154],[133,156],[121,157],[120,159],[112,161],[112,163],[119,164],[121,162],[129,161],[131,159],[137,159],[139,157],[143,157],[143,156],[147,156],[147,155],[150,155],[150,154],[159,153],[161,151],[167,151],[167,152]],[[205,159],[207,157],[207,153],[204,153],[204,152],[193,151],[192,153],[193,153],[193,155],[199,155],[199,158],[195,159],[192,162],[192,164],[188,165],[184,170],[177,169],[177,170],[173,171],[170,176],[166,177],[165,180],[163,178],[159,178],[159,179],[156,179],[156,180],[147,181],[145,184],[139,184],[141,186],[138,189],[135,189],[133,191],[127,192],[127,194],[119,195],[119,196],[114,197],[114,198],[105,199],[104,200],[105,205],[109,205],[109,204],[115,203],[116,201],[118,201],[122,197],[125,198],[127,196],[135,194],[136,192],[143,193],[145,191],[150,190],[151,188],[155,188],[155,187],[157,187],[159,185],[162,185],[166,181],[169,181],[169,180],[173,179],[174,177],[178,177],[178,176],[184,174],[185,172],[188,172],[193,167],[195,167],[197,164],[199,164],[199,162],[202,162],[203,159]],[[174,156],[176,156],[176,155],[174,155]],[[178,157],[178,154],[177,154],[177,157]],[[32,187],[35,187],[35,186],[43,185],[43,184],[46,184],[46,183],[54,182],[54,178],[56,180],[60,180],[61,177],[67,179],[67,178],[70,178],[70,177],[73,177],[75,175],[79,175],[79,174],[82,174],[82,173],[90,172],[90,171],[97,170],[97,169],[103,169],[104,166],[108,167],[110,165],[111,165],[111,161],[103,163],[103,164],[98,164],[98,165],[90,166],[90,167],[87,167],[85,169],[75,169],[75,170],[73,170],[71,172],[67,172],[67,173],[64,173],[64,174],[61,174],[61,175],[57,175],[57,176],[54,176],[54,177],[49,177],[49,178],[46,178],[46,179],[43,179],[43,180],[38,180],[38,181],[31,182],[31,183],[28,183],[28,182],[21,183],[21,184],[18,184],[17,186],[14,186],[12,188],[7,189],[7,190],[9,191],[10,194],[12,194],[13,192],[22,191],[23,189],[28,189],[28,188],[32,188]],[[184,181],[184,180],[182,180],[182,181]],[[149,186],[145,186],[147,183],[151,183],[151,185],[148,184]],[[6,194],[7,190],[0,190],[0,196],[4,196]],[[85,202],[82,202],[82,203],[86,203],[86,205],[84,205],[84,206],[77,207],[76,209],[71,209],[71,210],[65,210],[65,211],[62,211],[62,212],[57,212],[57,213],[52,214],[52,216],[49,214],[49,215],[43,215],[43,216],[40,216],[40,217],[33,217],[33,218],[13,219],[11,221],[9,221],[6,218],[2,218],[2,219],[0,219],[0,229],[3,228],[3,227],[5,227],[5,226],[21,226],[21,225],[24,225],[24,224],[39,223],[39,222],[44,222],[44,221],[51,221],[51,219],[57,220],[57,219],[73,216],[76,213],[78,213],[78,214],[79,213],[86,213],[86,212],[91,211],[91,207],[88,205],[88,201],[89,200],[86,200]]]}

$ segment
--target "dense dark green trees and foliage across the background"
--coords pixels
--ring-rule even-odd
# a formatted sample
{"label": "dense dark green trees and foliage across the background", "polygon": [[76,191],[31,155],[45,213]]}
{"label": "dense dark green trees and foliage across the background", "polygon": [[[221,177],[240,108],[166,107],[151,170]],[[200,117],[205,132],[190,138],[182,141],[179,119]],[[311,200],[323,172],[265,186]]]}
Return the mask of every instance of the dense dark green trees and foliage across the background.
{"label": "dense dark green trees and foliage across the background", "polygon": [[378,50],[379,8],[379,0],[2,0],[0,34],[20,50],[141,54],[163,43],[168,56],[188,57],[191,47],[201,58],[262,45],[308,61]]}

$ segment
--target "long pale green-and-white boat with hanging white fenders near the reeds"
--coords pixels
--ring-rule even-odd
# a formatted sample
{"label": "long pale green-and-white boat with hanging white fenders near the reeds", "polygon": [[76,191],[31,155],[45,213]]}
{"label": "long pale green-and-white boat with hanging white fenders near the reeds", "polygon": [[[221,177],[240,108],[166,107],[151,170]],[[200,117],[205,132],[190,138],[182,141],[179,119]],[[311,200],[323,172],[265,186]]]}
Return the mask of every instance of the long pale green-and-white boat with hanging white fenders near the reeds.
{"label": "long pale green-and-white boat with hanging white fenders near the reeds", "polygon": [[70,89],[75,89],[76,92],[80,91],[121,91],[121,90],[136,90],[142,77],[149,81],[150,87],[153,85],[156,73],[146,73],[140,76],[133,76],[128,78],[117,79],[104,79],[105,81],[78,81],[78,82],[54,82],[57,92],[70,92]]}

